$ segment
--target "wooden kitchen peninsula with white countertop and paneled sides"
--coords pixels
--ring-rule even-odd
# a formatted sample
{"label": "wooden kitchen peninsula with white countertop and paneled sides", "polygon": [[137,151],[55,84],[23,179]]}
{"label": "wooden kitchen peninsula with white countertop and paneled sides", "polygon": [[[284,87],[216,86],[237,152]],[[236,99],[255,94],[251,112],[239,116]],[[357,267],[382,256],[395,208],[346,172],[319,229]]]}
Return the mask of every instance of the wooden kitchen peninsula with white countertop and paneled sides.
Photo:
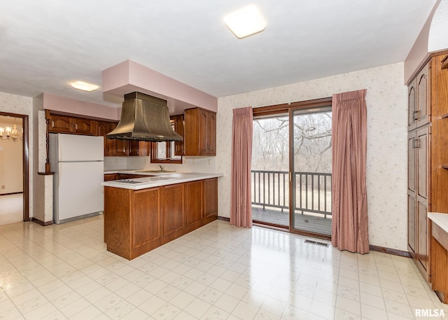
{"label": "wooden kitchen peninsula with white countertop and paneled sides", "polygon": [[218,218],[222,174],[148,173],[104,181],[104,242],[132,260]]}

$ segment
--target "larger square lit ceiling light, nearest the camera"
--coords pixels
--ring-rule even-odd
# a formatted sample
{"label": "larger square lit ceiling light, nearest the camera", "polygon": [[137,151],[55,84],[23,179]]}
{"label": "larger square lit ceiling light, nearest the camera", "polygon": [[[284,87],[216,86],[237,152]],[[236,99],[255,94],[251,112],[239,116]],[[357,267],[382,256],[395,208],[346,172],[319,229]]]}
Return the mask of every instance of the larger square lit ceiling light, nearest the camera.
{"label": "larger square lit ceiling light, nearest the camera", "polygon": [[224,17],[225,25],[238,39],[262,32],[266,27],[266,20],[258,8],[251,4]]}

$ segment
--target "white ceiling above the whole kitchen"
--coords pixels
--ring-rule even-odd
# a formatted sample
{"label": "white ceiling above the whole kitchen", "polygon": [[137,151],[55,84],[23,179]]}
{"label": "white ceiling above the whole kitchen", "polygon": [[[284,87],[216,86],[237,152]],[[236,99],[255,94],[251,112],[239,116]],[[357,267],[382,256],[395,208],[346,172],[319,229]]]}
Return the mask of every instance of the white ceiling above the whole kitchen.
{"label": "white ceiling above the whole kitchen", "polygon": [[[215,97],[402,62],[435,2],[2,0],[0,92],[119,106],[68,83],[128,59]],[[223,16],[251,3],[267,27],[237,39]]]}

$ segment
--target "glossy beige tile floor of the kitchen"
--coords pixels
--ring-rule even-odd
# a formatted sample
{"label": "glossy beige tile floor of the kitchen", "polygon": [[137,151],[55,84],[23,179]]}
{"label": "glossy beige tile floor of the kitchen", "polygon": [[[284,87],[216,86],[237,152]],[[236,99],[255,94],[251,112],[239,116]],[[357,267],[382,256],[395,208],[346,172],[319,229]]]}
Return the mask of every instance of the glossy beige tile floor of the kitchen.
{"label": "glossy beige tile floor of the kitchen", "polygon": [[409,258],[214,221],[128,261],[106,251],[102,229],[102,216],[0,227],[0,319],[426,319],[416,308],[448,316]]}

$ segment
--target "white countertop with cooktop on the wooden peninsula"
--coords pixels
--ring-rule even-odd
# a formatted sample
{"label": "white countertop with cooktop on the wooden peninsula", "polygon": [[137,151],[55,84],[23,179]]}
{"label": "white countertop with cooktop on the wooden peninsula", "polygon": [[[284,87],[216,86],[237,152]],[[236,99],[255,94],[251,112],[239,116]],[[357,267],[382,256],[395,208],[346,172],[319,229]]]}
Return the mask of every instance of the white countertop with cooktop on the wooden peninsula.
{"label": "white countertop with cooktop on the wooden peninsula", "polygon": [[142,174],[148,175],[144,178],[125,179],[125,181],[134,181],[134,183],[123,182],[120,180],[104,181],[102,186],[124,188],[132,190],[141,190],[147,188],[154,188],[159,186],[167,186],[169,184],[183,183],[189,181],[197,181],[211,178],[218,178],[223,174],[209,174],[209,173],[181,173],[181,172],[141,172],[139,170],[115,170],[104,172],[104,174],[123,173],[123,174]]}

